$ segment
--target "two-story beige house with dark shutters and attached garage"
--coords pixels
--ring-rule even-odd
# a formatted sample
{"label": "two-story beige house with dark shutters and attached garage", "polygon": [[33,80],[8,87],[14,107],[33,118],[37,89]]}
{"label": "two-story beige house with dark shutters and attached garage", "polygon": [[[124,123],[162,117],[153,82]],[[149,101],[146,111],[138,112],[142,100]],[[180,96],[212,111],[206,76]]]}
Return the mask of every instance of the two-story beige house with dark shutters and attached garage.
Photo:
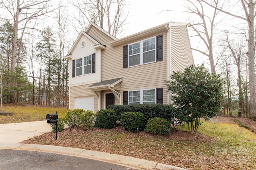
{"label": "two-story beige house with dark shutters and attached garage", "polygon": [[186,23],[164,23],[121,39],[90,23],[66,59],[69,108],[94,112],[110,104],[169,104],[164,80],[194,64]]}

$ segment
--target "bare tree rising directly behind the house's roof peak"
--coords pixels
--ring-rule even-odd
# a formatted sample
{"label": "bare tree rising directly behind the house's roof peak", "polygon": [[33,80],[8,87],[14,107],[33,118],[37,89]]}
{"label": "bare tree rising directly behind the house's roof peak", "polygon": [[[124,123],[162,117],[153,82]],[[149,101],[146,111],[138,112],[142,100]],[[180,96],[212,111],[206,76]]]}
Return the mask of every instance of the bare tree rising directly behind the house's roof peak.
{"label": "bare tree rising directly behind the house's roof peak", "polygon": [[[115,36],[122,32],[122,27],[125,25],[128,13],[125,12],[125,0],[77,0],[70,2],[79,11],[79,21],[82,29],[85,30],[86,19],[92,21],[104,29],[107,26],[107,31]],[[77,18],[76,18],[77,20]],[[86,24],[87,25],[87,24]]]}

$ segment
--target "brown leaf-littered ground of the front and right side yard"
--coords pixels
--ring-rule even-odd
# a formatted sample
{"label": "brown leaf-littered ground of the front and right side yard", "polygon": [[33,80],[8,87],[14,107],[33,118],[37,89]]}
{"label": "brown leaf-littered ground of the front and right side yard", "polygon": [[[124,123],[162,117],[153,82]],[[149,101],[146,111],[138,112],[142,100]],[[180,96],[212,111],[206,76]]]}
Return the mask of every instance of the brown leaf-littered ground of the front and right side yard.
{"label": "brown leaf-littered ground of the front and right side yard", "polygon": [[[256,121],[250,119],[216,117],[210,119],[209,122],[234,124],[233,126],[237,127],[235,119],[250,127],[251,131],[256,131]],[[242,130],[240,127],[240,131],[247,130]],[[228,146],[228,143],[222,143],[221,145],[225,146],[223,149],[219,149],[220,145],[216,141],[219,139],[213,139],[206,135],[200,135],[198,139],[197,137],[198,134],[188,134],[187,131],[183,130],[171,131],[169,136],[163,136],[145,132],[127,132],[122,127],[115,129],[94,128],[88,131],[74,127],[58,133],[58,140],[55,140],[55,133],[51,132],[22,143],[96,150],[152,160],[190,170],[256,169],[256,156],[250,150],[239,150],[242,146],[237,149],[232,145]],[[228,152],[225,149],[229,149]],[[241,155],[244,157],[240,157]]]}

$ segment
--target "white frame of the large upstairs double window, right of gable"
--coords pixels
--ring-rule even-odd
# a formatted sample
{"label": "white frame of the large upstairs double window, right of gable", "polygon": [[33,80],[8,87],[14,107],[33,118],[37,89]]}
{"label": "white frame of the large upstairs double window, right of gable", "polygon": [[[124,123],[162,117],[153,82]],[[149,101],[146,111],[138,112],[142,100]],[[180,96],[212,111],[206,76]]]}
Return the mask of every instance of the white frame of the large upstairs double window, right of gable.
{"label": "white frame of the large upstairs double window, right of gable", "polygon": [[[148,39],[152,39],[152,38],[155,39],[155,48],[154,48],[154,49],[151,49],[151,50],[148,50],[148,51],[143,51],[143,41],[147,41]],[[140,53],[136,53],[136,54],[130,55],[130,45],[134,45],[134,44],[136,44],[136,43],[140,43]],[[146,53],[146,52],[149,52],[149,51],[155,51],[155,60],[152,61],[152,62],[148,62],[148,63],[154,63],[154,62],[156,62],[156,36],[128,44],[128,67],[133,67],[133,66],[148,64],[148,63],[143,63],[143,54]],[[139,64],[136,64],[136,65],[133,65],[133,66],[130,66],[130,57],[132,57],[132,56],[134,56],[134,55],[138,55],[138,54],[140,55],[140,63],[139,63]]]}

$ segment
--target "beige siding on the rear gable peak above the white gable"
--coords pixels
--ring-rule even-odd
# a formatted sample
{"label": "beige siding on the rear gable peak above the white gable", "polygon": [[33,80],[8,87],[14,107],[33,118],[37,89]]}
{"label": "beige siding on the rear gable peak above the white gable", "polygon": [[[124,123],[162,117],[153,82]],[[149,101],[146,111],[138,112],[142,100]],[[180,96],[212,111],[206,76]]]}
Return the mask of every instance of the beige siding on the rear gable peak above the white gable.
{"label": "beige siding on the rear gable peak above the white gable", "polygon": [[92,36],[94,39],[96,39],[98,42],[100,42],[103,45],[108,44],[110,41],[113,41],[112,38],[107,36],[105,33],[97,29],[96,27],[92,26],[90,30],[87,31],[87,33]]}

